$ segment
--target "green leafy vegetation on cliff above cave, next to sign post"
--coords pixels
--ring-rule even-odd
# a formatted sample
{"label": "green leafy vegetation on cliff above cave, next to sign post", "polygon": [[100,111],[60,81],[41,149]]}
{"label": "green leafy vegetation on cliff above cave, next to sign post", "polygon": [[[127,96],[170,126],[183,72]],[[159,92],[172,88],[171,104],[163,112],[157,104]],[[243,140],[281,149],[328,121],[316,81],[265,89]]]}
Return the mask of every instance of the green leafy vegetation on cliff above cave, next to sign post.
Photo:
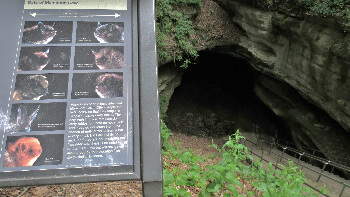
{"label": "green leafy vegetation on cliff above cave, next to sign post", "polygon": [[201,0],[156,0],[157,50],[159,62],[179,63],[187,68],[198,57],[191,35],[194,34],[190,11]]}

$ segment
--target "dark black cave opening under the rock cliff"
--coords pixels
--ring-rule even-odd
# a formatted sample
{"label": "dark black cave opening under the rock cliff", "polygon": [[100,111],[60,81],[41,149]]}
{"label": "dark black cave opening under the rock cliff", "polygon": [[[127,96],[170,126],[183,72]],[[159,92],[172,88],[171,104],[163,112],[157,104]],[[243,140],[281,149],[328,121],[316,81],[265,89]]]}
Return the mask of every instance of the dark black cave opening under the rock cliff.
{"label": "dark black cave opening under the rock cliff", "polygon": [[173,131],[189,135],[223,136],[240,129],[276,137],[286,128],[255,95],[255,76],[245,60],[201,52],[197,63],[184,71],[165,122]]}

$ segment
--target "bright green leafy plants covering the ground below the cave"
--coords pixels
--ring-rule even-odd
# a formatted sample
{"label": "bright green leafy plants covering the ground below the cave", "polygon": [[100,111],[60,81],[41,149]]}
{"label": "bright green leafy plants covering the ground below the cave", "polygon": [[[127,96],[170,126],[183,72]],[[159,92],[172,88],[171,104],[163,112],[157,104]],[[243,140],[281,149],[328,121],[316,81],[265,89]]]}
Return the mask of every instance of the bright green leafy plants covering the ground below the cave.
{"label": "bright green leafy plants covering the ground below the cave", "polygon": [[[282,170],[270,163],[265,170],[259,160],[253,161],[247,147],[239,143],[244,138],[239,131],[222,147],[212,144],[218,154],[210,156],[182,149],[168,139],[170,135],[162,123],[164,196],[318,196],[303,186],[306,182],[303,172],[293,163],[286,167],[280,165]],[[212,164],[203,166],[205,161]]]}

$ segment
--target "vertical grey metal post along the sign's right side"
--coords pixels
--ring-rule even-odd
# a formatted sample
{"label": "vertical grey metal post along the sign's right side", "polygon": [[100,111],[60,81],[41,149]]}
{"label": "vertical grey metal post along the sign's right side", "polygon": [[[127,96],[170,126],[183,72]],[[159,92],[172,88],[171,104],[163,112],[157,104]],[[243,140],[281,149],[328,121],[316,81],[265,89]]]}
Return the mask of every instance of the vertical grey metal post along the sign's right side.
{"label": "vertical grey metal post along the sign's right side", "polygon": [[[143,192],[145,196],[162,196],[162,161],[160,155],[162,150],[159,123],[159,102],[158,102],[158,72],[156,54],[155,34],[155,4],[154,0],[139,1],[140,10],[140,32],[154,32],[151,34],[140,34],[140,120],[143,130],[142,139],[142,176]],[[153,18],[153,20],[147,20]],[[157,99],[154,99],[154,96]],[[154,145],[157,144],[157,147]]]}

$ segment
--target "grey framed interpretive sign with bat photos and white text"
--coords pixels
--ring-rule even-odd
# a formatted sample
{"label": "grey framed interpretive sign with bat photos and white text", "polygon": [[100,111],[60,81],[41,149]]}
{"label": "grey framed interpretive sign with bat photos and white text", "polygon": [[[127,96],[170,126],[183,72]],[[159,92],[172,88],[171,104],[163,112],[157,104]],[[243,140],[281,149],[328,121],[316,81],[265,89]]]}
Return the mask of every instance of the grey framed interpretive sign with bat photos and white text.
{"label": "grey framed interpretive sign with bat photos and white text", "polygon": [[[133,0],[2,1],[2,186],[141,179],[140,136],[147,131],[139,124],[146,91],[140,71],[155,50],[146,49],[149,40],[139,44],[138,18],[154,18],[141,19],[138,6]],[[154,60],[145,74],[156,71]],[[157,107],[147,113],[157,116]],[[159,120],[150,124],[159,127]],[[159,136],[155,130],[151,136]]]}

